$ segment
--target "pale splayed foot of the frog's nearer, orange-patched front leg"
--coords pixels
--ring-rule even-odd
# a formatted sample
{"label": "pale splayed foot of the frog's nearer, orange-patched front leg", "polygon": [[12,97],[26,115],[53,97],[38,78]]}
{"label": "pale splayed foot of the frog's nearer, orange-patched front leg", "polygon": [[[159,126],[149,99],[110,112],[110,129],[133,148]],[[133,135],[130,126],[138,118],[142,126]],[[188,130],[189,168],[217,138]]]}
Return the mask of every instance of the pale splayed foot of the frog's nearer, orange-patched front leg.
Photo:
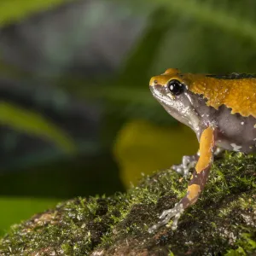
{"label": "pale splayed foot of the frog's nearer, orange-patched front leg", "polygon": [[[172,230],[177,229],[177,221],[183,213],[183,204],[178,202],[172,209],[166,210],[161,213],[160,219],[162,219],[159,223],[154,224],[152,227],[148,229],[148,233],[154,233],[155,230],[158,230],[161,226],[167,225],[172,217]],[[167,225],[168,226],[168,225]]]}

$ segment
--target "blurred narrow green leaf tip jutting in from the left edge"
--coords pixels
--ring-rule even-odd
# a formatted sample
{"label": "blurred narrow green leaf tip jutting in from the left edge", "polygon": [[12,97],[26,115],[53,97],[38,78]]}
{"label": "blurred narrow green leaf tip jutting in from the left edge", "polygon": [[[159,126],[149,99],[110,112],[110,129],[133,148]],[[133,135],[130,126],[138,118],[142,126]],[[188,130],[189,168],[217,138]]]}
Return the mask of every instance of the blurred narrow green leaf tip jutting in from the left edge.
{"label": "blurred narrow green leaf tip jutting in from the left edge", "polygon": [[67,153],[74,153],[76,150],[72,138],[68,137],[61,128],[42,115],[14,104],[0,103],[0,123],[27,134],[45,137]]}

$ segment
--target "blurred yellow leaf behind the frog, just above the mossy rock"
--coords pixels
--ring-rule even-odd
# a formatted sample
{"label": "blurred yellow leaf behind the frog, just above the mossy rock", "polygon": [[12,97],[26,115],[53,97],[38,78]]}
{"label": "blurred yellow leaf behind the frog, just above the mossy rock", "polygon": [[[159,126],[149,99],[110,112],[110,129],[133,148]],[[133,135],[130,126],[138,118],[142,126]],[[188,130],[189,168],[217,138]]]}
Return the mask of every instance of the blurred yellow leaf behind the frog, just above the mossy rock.
{"label": "blurred yellow leaf behind the frog, just above the mossy rock", "polygon": [[125,124],[116,137],[113,154],[126,187],[136,184],[141,173],[180,164],[183,155],[198,149],[195,133],[185,125],[162,127],[142,120]]}

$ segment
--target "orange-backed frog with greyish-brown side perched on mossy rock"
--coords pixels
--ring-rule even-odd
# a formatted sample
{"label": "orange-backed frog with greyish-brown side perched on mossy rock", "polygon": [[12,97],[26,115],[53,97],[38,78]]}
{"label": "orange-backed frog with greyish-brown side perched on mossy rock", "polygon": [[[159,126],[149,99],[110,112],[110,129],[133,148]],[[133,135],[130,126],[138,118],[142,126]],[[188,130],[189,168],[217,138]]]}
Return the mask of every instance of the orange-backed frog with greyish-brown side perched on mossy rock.
{"label": "orange-backed frog with greyish-brown side perched on mossy rock", "polygon": [[163,225],[177,229],[178,219],[195,204],[207,184],[216,155],[224,150],[245,154],[256,152],[256,75],[181,73],[169,68],[150,79],[149,88],[166,112],[188,125],[199,142],[199,151],[183,156],[172,169],[184,176],[194,169],[186,195],[174,207],[160,214],[160,221],[148,229],[153,233]]}

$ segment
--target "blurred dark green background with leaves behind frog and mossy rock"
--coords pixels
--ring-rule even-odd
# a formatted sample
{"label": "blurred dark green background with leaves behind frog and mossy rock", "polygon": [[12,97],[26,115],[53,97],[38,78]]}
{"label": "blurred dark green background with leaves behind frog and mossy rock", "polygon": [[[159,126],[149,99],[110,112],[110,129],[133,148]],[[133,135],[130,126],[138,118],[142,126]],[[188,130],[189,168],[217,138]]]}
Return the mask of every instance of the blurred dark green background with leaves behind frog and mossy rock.
{"label": "blurred dark green background with leaves behind frog and mossy rock", "polygon": [[256,3],[0,2],[0,234],[74,196],[111,195],[197,148],[151,76],[255,73]]}

